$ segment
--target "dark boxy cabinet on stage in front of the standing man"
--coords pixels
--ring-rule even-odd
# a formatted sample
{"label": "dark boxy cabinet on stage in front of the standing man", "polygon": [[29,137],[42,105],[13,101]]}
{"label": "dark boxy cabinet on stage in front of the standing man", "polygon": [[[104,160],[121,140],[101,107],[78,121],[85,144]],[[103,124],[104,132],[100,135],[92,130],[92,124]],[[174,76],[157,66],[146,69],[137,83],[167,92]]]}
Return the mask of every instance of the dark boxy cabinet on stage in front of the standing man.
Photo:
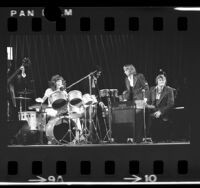
{"label": "dark boxy cabinet on stage in front of the standing man", "polygon": [[112,106],[112,138],[117,143],[127,143],[135,138],[135,106],[130,102],[119,102]]}

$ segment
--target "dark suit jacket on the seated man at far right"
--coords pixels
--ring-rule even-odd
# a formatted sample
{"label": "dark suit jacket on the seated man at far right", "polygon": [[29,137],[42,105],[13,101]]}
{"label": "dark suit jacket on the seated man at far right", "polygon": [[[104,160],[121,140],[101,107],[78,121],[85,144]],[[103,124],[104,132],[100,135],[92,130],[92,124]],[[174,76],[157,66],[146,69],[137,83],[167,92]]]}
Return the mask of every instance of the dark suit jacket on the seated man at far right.
{"label": "dark suit jacket on the seated man at far right", "polygon": [[156,100],[156,86],[150,88],[147,103],[156,107],[154,111],[160,110],[161,115],[166,115],[169,109],[174,106],[173,89],[169,86],[164,86],[160,99]]}

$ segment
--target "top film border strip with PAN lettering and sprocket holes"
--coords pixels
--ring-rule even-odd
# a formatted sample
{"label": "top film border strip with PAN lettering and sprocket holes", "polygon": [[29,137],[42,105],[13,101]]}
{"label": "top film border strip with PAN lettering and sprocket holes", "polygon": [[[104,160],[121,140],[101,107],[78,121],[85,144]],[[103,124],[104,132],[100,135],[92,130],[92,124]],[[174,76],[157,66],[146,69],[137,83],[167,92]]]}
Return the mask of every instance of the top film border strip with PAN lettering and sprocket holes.
{"label": "top film border strip with PAN lettering and sprocket holes", "polygon": [[[191,17],[174,7],[166,8],[58,8],[10,9],[7,30],[12,32],[115,33],[148,31],[187,31]],[[173,16],[173,19],[172,19]]]}

